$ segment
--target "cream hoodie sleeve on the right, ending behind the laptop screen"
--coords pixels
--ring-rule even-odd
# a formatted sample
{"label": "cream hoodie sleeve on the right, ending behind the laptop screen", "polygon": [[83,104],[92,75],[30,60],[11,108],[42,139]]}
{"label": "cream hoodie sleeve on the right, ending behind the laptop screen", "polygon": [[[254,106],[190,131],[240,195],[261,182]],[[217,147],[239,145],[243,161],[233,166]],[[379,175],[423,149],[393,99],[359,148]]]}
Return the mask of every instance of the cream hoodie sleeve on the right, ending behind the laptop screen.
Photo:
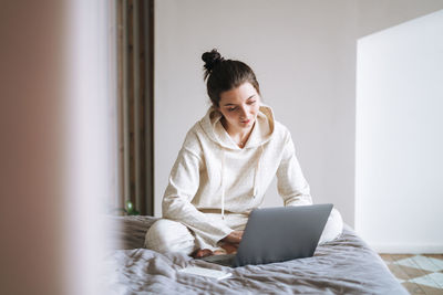
{"label": "cream hoodie sleeve on the right, ending behind the laptop screen", "polygon": [[312,204],[309,185],[301,172],[289,131],[287,131],[284,155],[277,170],[277,188],[285,206]]}

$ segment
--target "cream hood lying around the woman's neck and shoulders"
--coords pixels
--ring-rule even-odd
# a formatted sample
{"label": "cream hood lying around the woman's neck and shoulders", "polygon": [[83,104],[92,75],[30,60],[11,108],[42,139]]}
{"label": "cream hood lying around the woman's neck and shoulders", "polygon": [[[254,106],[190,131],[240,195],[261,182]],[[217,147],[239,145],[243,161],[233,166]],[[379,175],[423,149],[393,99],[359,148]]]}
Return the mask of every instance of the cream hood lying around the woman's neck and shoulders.
{"label": "cream hood lying around the woman's neck and shoulders", "polygon": [[[234,143],[223,127],[220,119],[222,113],[212,106],[200,119],[199,124],[208,138],[218,144],[222,148],[240,150],[241,148]],[[253,131],[244,148],[257,148],[269,141],[272,137],[274,128],[275,120],[272,109],[267,105],[260,105]]]}

